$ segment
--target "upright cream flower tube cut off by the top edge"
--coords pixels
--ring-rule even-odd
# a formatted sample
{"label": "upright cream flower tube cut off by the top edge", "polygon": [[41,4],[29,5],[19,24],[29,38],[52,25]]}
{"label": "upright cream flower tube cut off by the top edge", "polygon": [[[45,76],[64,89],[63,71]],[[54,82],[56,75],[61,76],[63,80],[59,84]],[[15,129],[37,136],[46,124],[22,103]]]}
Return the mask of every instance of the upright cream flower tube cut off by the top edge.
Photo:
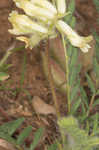
{"label": "upright cream flower tube cut off by the top edge", "polygon": [[66,12],[66,0],[57,0],[57,10],[59,14]]}

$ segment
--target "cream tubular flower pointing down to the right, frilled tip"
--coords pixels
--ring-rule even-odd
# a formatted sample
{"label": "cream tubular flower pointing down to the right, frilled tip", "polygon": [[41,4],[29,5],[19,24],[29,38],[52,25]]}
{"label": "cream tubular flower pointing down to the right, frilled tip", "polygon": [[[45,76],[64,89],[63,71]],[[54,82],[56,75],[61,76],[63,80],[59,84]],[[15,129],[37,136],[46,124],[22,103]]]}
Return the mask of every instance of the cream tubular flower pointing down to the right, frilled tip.
{"label": "cream tubular flower pointing down to the right, frilled tip", "polygon": [[68,24],[62,20],[57,21],[56,27],[60,32],[67,36],[73,46],[79,47],[85,53],[88,52],[90,48],[88,43],[93,39],[92,36],[79,36]]}

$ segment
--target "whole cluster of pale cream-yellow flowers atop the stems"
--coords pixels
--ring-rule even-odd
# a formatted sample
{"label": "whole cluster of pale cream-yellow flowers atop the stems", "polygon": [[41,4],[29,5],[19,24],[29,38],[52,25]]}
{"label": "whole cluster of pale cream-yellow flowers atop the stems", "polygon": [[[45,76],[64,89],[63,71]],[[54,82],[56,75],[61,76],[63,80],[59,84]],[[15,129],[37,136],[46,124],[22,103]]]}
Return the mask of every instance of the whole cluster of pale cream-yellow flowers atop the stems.
{"label": "whole cluster of pale cream-yellow flowers atop the stems", "polygon": [[71,44],[88,52],[92,36],[79,36],[67,23],[62,21],[66,15],[65,0],[56,0],[56,6],[48,0],[14,0],[16,6],[24,10],[25,14],[12,11],[9,21],[13,29],[9,32],[18,35],[17,39],[24,41],[26,47],[33,48],[41,40],[53,38],[57,30],[66,35]]}

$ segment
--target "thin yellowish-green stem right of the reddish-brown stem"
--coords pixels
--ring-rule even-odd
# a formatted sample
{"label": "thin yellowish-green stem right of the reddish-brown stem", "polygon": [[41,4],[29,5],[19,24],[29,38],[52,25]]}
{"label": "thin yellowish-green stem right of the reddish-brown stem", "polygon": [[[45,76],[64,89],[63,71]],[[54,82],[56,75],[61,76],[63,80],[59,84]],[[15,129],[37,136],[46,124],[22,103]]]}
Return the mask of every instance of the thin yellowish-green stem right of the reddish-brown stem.
{"label": "thin yellowish-green stem right of the reddish-brown stem", "polygon": [[67,103],[68,103],[68,113],[70,113],[70,86],[69,86],[69,67],[68,67],[68,55],[67,55],[67,50],[66,50],[66,43],[65,43],[65,39],[64,39],[64,35],[62,35],[62,43],[63,43],[63,47],[64,47],[64,53],[65,53],[65,63],[66,63],[66,94],[67,94]]}

